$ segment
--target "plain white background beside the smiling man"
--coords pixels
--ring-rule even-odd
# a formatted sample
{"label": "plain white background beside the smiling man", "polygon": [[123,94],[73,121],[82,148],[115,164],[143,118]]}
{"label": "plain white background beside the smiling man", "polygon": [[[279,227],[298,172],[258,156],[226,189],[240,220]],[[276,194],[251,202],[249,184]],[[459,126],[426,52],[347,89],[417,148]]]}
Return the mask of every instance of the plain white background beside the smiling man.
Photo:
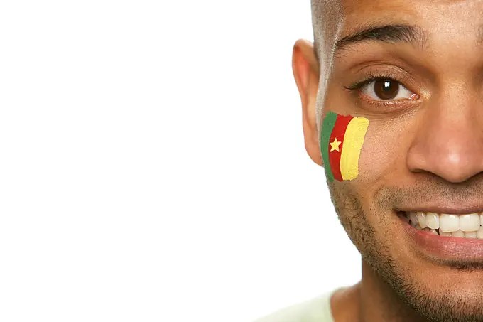
{"label": "plain white background beside the smiling man", "polygon": [[251,321],[355,283],[310,1],[3,1],[0,321]]}

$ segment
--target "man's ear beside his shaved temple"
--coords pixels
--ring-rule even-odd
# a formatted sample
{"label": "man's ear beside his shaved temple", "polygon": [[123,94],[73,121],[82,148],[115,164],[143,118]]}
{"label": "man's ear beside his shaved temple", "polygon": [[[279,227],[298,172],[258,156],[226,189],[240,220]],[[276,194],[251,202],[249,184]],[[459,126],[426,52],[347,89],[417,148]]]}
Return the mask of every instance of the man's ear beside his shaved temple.
{"label": "man's ear beside his shaved temple", "polygon": [[299,39],[293,46],[292,70],[302,100],[303,136],[310,159],[322,166],[315,106],[319,87],[319,63],[310,41]]}

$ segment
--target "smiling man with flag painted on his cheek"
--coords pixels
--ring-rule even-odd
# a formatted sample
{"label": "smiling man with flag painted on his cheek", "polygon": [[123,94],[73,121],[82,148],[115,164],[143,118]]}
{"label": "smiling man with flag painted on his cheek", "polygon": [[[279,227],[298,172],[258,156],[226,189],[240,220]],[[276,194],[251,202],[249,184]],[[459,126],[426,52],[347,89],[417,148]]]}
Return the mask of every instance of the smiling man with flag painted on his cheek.
{"label": "smiling man with flag painted on his cheek", "polygon": [[293,49],[305,147],[362,281],[261,321],[483,321],[483,1],[312,9],[315,45]]}

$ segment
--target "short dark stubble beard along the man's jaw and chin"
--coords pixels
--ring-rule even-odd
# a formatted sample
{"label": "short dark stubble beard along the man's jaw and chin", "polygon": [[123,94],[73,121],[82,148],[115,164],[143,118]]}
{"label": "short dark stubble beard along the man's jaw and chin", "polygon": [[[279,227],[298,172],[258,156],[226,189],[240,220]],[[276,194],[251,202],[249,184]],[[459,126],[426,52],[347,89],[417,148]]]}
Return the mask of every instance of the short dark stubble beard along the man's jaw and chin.
{"label": "short dark stubble beard along the man's jaw and chin", "polygon": [[[357,247],[364,262],[381,281],[390,286],[400,301],[407,304],[421,317],[433,322],[483,322],[483,290],[478,298],[468,299],[458,297],[451,292],[445,294],[431,294],[411,279],[411,274],[404,272],[401,265],[391,257],[388,240],[378,240],[376,231],[367,220],[361,198],[356,191],[344,187],[336,187],[327,183],[332,203],[344,230],[352,243]],[[394,198],[393,195],[379,195],[378,198]],[[383,213],[379,208],[384,202],[376,200],[369,207],[369,211]],[[385,210],[390,211],[389,209]],[[413,272],[423,274],[423,272]],[[394,312],[395,313],[395,312]],[[406,313],[400,312],[391,321],[408,321]]]}

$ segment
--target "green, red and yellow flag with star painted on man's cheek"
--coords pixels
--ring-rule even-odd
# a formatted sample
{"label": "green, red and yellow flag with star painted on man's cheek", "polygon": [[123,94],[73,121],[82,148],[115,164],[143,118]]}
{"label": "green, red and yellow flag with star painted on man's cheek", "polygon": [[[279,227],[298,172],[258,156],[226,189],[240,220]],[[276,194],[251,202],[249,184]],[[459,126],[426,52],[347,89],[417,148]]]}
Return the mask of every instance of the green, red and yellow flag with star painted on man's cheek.
{"label": "green, red and yellow flag with star painted on man's cheek", "polygon": [[369,126],[365,117],[328,112],[322,122],[320,152],[330,182],[352,180],[359,174],[359,155]]}

